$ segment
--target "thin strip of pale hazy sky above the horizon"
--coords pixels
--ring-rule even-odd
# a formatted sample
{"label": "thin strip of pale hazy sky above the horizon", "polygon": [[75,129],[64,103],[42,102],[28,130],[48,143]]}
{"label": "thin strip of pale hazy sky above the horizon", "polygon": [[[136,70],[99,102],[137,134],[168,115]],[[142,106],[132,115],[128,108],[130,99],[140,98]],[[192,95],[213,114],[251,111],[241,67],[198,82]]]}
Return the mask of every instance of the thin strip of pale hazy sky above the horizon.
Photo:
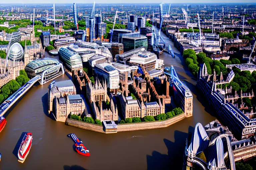
{"label": "thin strip of pale hazy sky above the horizon", "polygon": [[1,0],[1,3],[255,3],[255,0],[179,0],[179,1],[168,1],[168,0]]}

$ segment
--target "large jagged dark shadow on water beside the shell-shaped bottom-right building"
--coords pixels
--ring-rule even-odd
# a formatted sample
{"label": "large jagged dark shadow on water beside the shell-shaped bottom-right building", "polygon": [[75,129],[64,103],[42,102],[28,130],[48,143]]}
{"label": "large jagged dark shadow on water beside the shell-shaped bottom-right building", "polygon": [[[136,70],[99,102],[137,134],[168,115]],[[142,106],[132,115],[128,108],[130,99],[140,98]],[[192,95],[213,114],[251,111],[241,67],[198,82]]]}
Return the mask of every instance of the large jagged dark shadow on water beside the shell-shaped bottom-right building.
{"label": "large jagged dark shadow on water beside the shell-shaped bottom-right building", "polygon": [[[189,132],[194,131],[195,128],[189,126]],[[153,151],[152,155],[147,155],[147,169],[182,169],[183,153],[185,149],[185,141],[188,133],[175,130],[174,142],[164,139],[164,143],[168,149],[168,154],[161,154],[158,151]],[[184,143],[181,145],[180,143]],[[180,146],[180,147],[177,147]]]}

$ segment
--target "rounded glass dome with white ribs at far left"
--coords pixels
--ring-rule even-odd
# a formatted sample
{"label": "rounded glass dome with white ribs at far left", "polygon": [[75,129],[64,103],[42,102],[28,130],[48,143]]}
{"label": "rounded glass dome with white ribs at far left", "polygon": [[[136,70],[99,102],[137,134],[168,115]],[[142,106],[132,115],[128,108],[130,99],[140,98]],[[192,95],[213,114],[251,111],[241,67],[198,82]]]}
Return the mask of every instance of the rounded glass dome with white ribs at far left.
{"label": "rounded glass dome with white ribs at far left", "polygon": [[8,51],[8,59],[12,61],[20,61],[24,55],[24,50],[18,42],[11,45]]}

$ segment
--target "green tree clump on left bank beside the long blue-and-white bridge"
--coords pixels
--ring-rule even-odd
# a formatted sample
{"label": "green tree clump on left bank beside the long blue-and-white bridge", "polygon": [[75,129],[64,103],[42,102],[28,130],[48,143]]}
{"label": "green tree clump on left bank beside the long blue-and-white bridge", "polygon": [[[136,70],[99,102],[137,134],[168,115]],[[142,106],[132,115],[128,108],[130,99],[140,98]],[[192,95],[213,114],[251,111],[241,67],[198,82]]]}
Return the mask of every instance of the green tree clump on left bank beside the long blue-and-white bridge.
{"label": "green tree clump on left bank beside the long blue-and-white bridge", "polygon": [[11,80],[6,83],[0,90],[0,103],[7,99],[10,95],[16,92],[22,85],[29,80],[25,70],[20,70],[20,75],[16,77],[16,80]]}

